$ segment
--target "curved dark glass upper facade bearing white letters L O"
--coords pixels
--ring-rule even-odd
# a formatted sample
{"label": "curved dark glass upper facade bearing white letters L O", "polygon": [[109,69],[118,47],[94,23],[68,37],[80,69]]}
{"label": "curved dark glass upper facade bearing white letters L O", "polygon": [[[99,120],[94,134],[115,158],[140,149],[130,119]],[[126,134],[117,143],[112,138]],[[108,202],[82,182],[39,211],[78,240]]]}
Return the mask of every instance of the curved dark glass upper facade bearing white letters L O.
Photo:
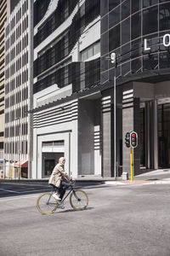
{"label": "curved dark glass upper facade bearing white letters L O", "polygon": [[[105,0],[100,8],[101,83],[110,79],[112,67],[107,62],[111,61],[105,57],[112,52],[116,53],[116,77],[169,67],[163,36],[170,32],[170,1]],[[149,51],[144,50],[144,38]]]}

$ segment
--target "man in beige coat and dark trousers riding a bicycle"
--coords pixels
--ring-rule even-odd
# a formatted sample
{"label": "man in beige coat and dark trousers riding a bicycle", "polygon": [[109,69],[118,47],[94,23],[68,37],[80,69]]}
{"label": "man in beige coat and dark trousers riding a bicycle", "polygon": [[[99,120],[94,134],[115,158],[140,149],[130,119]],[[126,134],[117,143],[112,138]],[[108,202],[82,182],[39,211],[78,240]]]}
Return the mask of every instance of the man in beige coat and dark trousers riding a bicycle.
{"label": "man in beige coat and dark trousers riding a bicycle", "polygon": [[56,193],[53,195],[55,199],[61,201],[65,195],[66,189],[69,187],[69,183],[74,180],[65,172],[65,157],[59,158],[59,163],[54,166],[54,170],[49,177],[48,183],[54,187]]}

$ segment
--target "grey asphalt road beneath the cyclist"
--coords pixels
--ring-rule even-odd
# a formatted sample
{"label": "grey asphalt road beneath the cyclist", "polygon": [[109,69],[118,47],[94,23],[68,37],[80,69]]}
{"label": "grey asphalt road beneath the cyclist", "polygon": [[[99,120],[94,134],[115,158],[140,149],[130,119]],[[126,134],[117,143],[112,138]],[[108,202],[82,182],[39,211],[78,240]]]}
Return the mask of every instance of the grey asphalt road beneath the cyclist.
{"label": "grey asphalt road beneath the cyclist", "polygon": [[40,193],[8,192],[13,196],[0,198],[0,255],[169,256],[169,190],[168,184],[86,187],[87,210],[76,212],[67,200],[51,215],[37,212]]}

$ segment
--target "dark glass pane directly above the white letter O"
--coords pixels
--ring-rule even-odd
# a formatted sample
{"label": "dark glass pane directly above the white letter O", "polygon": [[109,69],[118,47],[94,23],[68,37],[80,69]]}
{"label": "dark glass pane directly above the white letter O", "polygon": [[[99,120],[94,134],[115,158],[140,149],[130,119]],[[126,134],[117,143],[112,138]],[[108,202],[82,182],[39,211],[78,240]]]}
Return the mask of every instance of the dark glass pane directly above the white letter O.
{"label": "dark glass pane directly above the white letter O", "polygon": [[170,3],[160,5],[160,30],[170,29]]}

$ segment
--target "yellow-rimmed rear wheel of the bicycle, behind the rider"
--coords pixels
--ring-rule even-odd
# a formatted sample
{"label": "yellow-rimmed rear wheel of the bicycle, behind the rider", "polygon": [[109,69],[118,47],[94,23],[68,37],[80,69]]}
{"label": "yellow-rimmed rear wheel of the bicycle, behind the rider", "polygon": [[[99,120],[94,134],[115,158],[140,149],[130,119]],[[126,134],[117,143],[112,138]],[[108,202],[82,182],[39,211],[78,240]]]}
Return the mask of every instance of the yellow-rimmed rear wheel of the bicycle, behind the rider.
{"label": "yellow-rimmed rear wheel of the bicycle, behind the rider", "polygon": [[57,207],[58,201],[49,192],[40,195],[37,199],[37,209],[43,214],[51,214]]}

